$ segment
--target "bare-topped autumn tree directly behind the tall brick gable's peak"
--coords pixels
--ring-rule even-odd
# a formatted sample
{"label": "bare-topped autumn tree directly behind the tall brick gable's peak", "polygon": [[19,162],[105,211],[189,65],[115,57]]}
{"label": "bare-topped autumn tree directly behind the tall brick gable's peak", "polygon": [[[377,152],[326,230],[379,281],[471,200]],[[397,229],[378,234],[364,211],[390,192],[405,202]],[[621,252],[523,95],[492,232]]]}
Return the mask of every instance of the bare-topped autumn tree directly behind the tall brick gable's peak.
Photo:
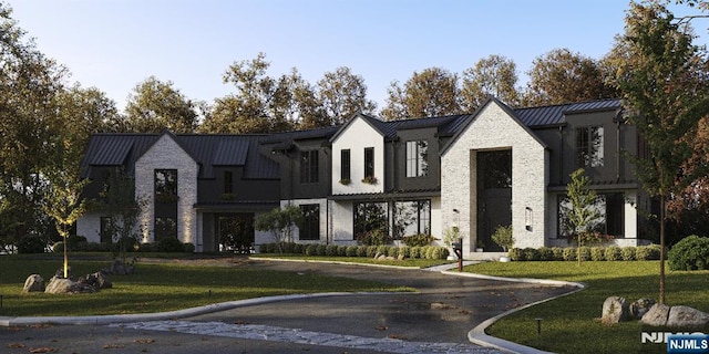
{"label": "bare-topped autumn tree directly behind the tall brick gable's peak", "polygon": [[515,106],[520,101],[516,84],[517,73],[514,61],[495,54],[481,59],[475,66],[463,72],[462,106],[465,111],[473,112],[489,96]]}

